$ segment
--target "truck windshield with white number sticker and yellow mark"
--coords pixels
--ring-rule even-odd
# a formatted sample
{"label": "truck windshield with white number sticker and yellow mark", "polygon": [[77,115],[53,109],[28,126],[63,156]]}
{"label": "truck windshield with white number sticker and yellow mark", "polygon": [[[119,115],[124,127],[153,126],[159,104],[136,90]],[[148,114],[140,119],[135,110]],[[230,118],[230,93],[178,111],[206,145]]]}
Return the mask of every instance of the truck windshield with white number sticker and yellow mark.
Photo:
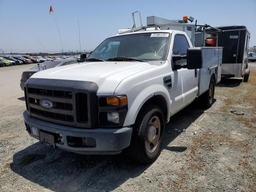
{"label": "truck windshield with white number sticker and yellow mark", "polygon": [[104,61],[111,58],[166,60],[169,40],[169,33],[159,32],[115,36],[104,40],[87,59]]}

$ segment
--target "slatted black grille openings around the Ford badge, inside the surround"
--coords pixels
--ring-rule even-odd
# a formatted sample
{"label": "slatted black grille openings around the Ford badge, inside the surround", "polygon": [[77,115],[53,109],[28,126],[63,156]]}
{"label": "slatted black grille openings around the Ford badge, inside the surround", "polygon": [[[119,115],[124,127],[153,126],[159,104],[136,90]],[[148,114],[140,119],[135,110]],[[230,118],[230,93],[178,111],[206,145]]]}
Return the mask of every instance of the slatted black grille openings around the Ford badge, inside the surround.
{"label": "slatted black grille openings around the Ford badge, inside the surround", "polygon": [[[73,96],[74,90],[72,91],[70,88],[68,91],[56,89],[58,90],[40,88],[40,86],[25,88],[25,99],[28,102],[27,110],[30,111],[31,116],[55,124],[86,127],[84,125],[88,122],[87,94],[74,93]],[[50,100],[52,108],[43,108],[40,105],[42,99]]]}

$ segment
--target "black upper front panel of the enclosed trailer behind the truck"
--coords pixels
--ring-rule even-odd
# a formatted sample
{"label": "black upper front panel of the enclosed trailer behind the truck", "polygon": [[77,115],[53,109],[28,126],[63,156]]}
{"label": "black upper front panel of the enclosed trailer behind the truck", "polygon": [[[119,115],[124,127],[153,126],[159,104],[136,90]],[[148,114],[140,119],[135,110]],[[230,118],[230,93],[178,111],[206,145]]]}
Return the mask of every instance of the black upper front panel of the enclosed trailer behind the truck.
{"label": "black upper front panel of the enclosed trailer behind the truck", "polygon": [[224,31],[218,35],[218,47],[223,47],[222,63],[236,63],[240,30]]}

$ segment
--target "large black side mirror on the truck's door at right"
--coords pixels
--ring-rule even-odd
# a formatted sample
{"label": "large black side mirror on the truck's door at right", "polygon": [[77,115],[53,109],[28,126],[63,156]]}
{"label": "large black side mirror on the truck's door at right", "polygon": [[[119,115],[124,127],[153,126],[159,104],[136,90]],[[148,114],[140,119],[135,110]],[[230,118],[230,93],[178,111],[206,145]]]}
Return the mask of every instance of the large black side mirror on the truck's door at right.
{"label": "large black side mirror on the truck's door at right", "polygon": [[190,47],[187,49],[187,68],[200,69],[202,68],[202,48]]}

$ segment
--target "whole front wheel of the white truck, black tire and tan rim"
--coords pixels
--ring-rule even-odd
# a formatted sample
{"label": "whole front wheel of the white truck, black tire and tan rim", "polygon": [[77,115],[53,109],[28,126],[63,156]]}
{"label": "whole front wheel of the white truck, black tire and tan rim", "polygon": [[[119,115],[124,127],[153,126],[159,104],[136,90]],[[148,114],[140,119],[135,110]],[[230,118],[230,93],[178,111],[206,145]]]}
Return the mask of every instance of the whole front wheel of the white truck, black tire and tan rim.
{"label": "whole front wheel of the white truck, black tire and tan rim", "polygon": [[157,106],[150,104],[142,108],[132,130],[132,140],[126,152],[133,160],[148,164],[159,152],[164,133],[164,115]]}

